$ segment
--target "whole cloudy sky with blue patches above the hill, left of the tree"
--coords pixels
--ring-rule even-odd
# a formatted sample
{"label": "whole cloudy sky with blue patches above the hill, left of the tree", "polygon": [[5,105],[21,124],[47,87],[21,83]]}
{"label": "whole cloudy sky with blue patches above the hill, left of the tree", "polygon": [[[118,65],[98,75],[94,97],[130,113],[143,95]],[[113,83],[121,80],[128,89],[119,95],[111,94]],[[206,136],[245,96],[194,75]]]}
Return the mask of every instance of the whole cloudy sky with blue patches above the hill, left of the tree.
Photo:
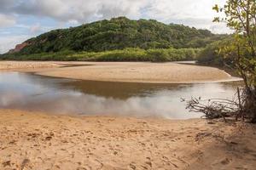
{"label": "whole cloudy sky with blue patches above the hill, left of the tree", "polygon": [[225,0],[0,0],[0,54],[46,31],[126,16],[229,33],[212,23]]}

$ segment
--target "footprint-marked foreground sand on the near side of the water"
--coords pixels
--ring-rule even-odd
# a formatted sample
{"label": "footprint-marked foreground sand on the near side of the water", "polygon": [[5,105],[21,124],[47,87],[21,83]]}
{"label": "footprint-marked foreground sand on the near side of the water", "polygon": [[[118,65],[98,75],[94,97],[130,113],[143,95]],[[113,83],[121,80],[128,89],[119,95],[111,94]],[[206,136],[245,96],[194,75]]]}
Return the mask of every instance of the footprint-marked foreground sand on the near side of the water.
{"label": "footprint-marked foreground sand on the near side of the water", "polygon": [[0,110],[0,169],[253,169],[255,128]]}

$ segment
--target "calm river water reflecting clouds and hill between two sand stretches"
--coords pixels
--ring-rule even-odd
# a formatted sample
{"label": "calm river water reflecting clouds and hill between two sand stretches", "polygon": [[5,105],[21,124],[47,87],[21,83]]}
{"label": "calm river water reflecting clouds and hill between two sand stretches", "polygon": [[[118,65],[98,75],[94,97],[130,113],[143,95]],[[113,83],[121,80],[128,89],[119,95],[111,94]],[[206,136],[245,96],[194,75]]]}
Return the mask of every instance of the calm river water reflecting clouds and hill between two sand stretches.
{"label": "calm river water reflecting clouds and hill between two sand stretches", "polygon": [[181,98],[232,98],[233,83],[147,84],[74,81],[0,72],[0,108],[55,114],[164,116],[187,119]]}

